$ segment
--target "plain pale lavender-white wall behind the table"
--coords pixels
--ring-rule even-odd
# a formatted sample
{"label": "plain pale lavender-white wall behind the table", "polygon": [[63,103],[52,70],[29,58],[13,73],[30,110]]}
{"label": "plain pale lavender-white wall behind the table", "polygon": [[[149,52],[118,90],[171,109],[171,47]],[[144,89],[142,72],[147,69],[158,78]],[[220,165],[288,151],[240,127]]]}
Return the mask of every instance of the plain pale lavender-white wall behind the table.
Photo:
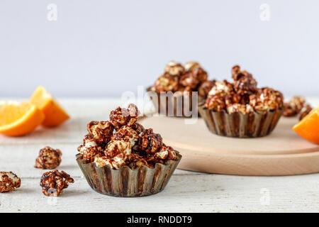
{"label": "plain pale lavender-white wall behind the table", "polygon": [[[57,5],[57,21],[47,5]],[[269,4],[270,21],[259,6]],[[0,1],[0,96],[120,96],[150,85],[169,60],[211,78],[235,64],[260,86],[319,96],[319,1]]]}

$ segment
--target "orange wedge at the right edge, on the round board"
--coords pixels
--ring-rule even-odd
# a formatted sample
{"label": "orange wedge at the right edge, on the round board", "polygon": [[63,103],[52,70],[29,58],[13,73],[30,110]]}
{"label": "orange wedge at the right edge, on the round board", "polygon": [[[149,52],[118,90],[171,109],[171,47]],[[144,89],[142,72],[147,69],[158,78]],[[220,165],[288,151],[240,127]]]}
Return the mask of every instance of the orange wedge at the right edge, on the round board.
{"label": "orange wedge at the right edge, on the round board", "polygon": [[319,144],[319,106],[293,126],[293,130],[302,138]]}

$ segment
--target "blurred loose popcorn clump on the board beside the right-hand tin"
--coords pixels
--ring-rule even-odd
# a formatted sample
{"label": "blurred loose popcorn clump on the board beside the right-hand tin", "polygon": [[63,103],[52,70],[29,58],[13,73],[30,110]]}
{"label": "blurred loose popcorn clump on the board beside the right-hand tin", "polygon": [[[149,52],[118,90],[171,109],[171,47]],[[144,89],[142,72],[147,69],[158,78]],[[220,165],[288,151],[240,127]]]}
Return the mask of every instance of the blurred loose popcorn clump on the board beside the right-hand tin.
{"label": "blurred loose popcorn clump on the board beside the right-hand tin", "polygon": [[299,114],[299,119],[301,120],[312,109],[303,96],[293,96],[289,102],[284,103],[284,116],[296,116]]}

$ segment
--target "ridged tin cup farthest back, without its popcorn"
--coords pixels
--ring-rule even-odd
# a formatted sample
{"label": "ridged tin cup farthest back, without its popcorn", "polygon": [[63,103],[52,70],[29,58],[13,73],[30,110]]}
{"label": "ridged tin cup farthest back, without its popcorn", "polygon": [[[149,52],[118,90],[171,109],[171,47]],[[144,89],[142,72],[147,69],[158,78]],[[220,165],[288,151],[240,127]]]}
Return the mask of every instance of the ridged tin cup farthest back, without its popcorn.
{"label": "ridged tin cup farthest back, without its popcorn", "polygon": [[[148,87],[146,91],[150,99],[152,99],[158,114],[174,117],[194,117],[194,114],[196,116],[199,114],[198,103],[202,98],[198,96],[196,99],[196,97],[192,96],[193,92],[189,92],[187,95],[184,95],[183,92],[174,92],[172,93],[173,95],[162,96],[161,92],[151,91],[151,87]],[[169,92],[166,93],[169,94]]]}

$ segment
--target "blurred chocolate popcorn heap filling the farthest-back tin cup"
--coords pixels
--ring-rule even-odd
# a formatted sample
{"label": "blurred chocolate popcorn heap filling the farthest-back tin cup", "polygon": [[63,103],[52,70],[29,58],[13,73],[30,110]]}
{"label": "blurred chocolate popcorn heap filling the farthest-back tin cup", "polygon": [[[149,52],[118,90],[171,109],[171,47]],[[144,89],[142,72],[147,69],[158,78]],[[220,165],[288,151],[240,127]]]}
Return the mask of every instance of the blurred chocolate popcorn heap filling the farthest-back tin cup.
{"label": "blurred chocolate popcorn heap filling the farthest-back tin cup", "polygon": [[152,86],[154,92],[194,92],[206,96],[214,81],[207,80],[207,72],[198,62],[187,62],[184,66],[171,61]]}

